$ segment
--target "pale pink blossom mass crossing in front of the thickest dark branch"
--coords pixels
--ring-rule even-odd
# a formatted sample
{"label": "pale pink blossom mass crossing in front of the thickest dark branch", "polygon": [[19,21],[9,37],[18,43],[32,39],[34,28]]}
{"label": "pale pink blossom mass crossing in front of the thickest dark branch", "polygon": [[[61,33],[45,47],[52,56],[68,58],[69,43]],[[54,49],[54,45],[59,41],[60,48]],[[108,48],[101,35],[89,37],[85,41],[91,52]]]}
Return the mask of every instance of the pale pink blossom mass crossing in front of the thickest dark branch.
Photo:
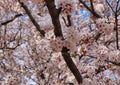
{"label": "pale pink blossom mass crossing in front of the thickest dark branch", "polygon": [[74,28],[65,28],[63,30],[64,40],[61,37],[55,37],[53,30],[46,33],[46,38],[49,39],[50,47],[55,52],[61,52],[63,46],[69,49],[70,53],[77,51],[77,43],[80,40],[78,30]]}

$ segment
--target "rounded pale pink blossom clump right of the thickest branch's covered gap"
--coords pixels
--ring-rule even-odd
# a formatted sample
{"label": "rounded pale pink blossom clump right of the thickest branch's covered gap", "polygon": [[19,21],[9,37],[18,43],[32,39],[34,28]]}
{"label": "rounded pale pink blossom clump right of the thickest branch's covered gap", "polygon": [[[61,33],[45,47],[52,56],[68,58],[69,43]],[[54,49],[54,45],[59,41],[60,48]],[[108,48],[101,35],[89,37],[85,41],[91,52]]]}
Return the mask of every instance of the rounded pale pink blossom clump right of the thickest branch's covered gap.
{"label": "rounded pale pink blossom clump right of the thickest branch's covered gap", "polygon": [[77,43],[80,40],[79,32],[75,28],[66,28],[63,32],[65,40],[64,46],[70,50],[70,53],[74,53],[77,50]]}

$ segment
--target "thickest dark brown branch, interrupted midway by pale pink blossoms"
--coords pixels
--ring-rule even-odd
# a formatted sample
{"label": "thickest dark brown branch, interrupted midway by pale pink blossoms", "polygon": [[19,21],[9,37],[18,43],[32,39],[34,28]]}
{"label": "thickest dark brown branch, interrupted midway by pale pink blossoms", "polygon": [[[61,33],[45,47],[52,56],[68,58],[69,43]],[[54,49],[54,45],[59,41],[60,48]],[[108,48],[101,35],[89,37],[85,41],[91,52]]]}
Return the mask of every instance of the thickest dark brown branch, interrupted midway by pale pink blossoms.
{"label": "thickest dark brown branch, interrupted midway by pale pink blossoms", "polygon": [[[60,20],[59,20],[59,13],[57,12],[57,9],[54,5],[54,0],[45,0],[45,2],[48,7],[51,18],[52,18],[55,36],[63,38]],[[68,51],[69,50],[66,47],[63,47],[62,51],[61,51],[62,56],[67,64],[67,66],[69,67],[70,71],[75,76],[77,82],[80,84],[80,83],[82,83],[82,76],[81,76],[79,70],[77,69],[76,65],[74,64],[72,58],[70,57],[70,54],[68,53]]]}

